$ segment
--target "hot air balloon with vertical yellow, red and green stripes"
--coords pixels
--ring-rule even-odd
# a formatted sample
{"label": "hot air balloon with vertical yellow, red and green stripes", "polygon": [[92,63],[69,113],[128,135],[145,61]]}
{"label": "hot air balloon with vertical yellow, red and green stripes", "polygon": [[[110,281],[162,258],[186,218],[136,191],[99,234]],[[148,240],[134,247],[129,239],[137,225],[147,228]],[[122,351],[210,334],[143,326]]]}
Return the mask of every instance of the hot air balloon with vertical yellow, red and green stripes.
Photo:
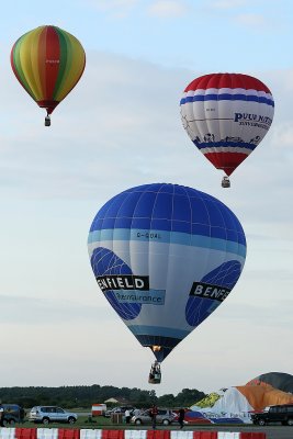
{"label": "hot air balloon with vertical yellow, red and green stripes", "polygon": [[49,115],[79,81],[86,54],[79,41],[57,26],[40,26],[22,35],[11,50],[20,83]]}

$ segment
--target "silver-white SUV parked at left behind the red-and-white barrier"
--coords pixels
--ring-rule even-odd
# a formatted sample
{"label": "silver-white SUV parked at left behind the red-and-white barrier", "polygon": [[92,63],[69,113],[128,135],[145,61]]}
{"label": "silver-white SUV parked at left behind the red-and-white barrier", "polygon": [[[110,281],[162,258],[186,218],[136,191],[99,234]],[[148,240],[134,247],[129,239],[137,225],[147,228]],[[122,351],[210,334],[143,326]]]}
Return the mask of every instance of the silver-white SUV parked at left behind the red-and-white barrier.
{"label": "silver-white SUV parked at left behind the red-and-white barrier", "polygon": [[66,412],[64,408],[53,405],[44,406],[38,405],[31,409],[29,413],[29,420],[33,423],[68,423],[75,424],[78,416],[76,413]]}

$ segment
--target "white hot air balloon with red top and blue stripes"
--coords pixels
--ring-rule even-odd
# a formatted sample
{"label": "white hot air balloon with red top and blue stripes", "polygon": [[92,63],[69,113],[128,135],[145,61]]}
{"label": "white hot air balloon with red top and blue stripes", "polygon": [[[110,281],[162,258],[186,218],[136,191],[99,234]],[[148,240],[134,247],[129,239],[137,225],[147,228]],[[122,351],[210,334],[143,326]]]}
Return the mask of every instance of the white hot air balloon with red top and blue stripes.
{"label": "white hot air balloon with red top and blue stripes", "polygon": [[274,112],[270,90],[241,74],[211,74],[194,79],[180,101],[181,120],[200,151],[226,176],[249,156],[268,133]]}

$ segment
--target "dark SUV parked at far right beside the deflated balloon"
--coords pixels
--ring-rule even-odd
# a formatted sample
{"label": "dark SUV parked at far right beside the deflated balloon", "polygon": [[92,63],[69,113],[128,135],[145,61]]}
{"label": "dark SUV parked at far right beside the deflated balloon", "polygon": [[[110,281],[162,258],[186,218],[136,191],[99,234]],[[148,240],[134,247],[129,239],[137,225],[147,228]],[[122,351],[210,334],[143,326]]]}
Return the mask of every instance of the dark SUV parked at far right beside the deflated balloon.
{"label": "dark SUV parked at far right beside the deflated balloon", "polygon": [[271,423],[293,426],[293,404],[272,405],[266,407],[262,413],[251,414],[253,424],[264,426]]}

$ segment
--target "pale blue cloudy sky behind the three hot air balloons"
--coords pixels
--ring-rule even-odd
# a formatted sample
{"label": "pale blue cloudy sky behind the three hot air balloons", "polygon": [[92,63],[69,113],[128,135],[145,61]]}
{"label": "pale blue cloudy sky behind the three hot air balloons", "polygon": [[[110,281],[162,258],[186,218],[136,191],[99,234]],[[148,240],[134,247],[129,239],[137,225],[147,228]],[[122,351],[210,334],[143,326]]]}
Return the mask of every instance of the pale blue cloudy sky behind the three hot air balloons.
{"label": "pale blue cloudy sky behind the three hot air balloons", "polygon": [[[1,5],[0,387],[100,384],[160,396],[293,373],[292,16],[290,0]],[[43,24],[70,32],[87,53],[49,128],[9,59],[14,42]],[[179,112],[187,85],[219,71],[256,76],[275,101],[268,135],[228,190]],[[247,238],[240,280],[166,359],[158,386],[147,383],[153,353],[99,291],[87,250],[99,209],[153,182],[219,199]]]}

